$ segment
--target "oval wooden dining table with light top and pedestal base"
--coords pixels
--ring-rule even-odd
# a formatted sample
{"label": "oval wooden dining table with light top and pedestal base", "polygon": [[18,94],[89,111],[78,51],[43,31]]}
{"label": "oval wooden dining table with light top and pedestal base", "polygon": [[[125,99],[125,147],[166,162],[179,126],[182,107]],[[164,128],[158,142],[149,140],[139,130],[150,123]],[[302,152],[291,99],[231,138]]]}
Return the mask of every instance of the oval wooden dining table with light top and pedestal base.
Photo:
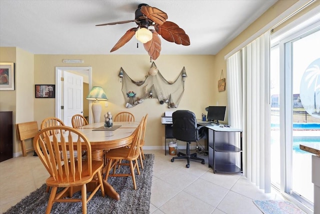
{"label": "oval wooden dining table with light top and pedestal base", "polygon": [[[132,133],[138,127],[139,122],[113,122],[110,128],[104,128],[104,123],[92,123],[77,128],[90,141],[92,160],[102,160],[103,153],[110,149],[120,148],[131,144]],[[101,171],[102,177],[105,167]],[[103,187],[106,195],[119,200],[119,194],[103,179]],[[89,187],[88,187],[89,189]]]}

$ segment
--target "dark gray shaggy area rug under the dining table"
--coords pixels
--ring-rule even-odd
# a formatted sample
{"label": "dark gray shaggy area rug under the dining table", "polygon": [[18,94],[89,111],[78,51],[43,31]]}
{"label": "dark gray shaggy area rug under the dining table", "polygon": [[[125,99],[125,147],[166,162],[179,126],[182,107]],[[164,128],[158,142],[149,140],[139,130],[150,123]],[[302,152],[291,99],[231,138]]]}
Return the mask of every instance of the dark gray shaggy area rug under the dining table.
{"label": "dark gray shaggy area rug under the dining table", "polygon": [[[98,190],[87,203],[87,213],[149,213],[154,154],[144,156],[144,168],[140,169],[140,175],[135,174],[137,189],[133,190],[131,177],[108,177],[108,182],[119,193],[120,200],[107,195],[102,197]],[[122,166],[118,170],[129,172],[129,167]],[[45,213],[50,194],[45,189],[46,185],[43,184],[4,213]],[[77,192],[74,196],[80,197],[81,194]],[[82,213],[81,202],[55,202],[51,213]]]}

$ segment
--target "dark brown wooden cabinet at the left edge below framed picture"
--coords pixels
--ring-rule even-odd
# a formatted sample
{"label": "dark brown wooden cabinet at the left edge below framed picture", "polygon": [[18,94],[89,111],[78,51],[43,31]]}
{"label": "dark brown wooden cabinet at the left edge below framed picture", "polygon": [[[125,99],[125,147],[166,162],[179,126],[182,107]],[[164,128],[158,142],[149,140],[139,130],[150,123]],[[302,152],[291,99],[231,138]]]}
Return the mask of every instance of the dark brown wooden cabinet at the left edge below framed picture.
{"label": "dark brown wooden cabinet at the left edge below framed picture", "polygon": [[12,158],[12,111],[0,112],[0,162]]}

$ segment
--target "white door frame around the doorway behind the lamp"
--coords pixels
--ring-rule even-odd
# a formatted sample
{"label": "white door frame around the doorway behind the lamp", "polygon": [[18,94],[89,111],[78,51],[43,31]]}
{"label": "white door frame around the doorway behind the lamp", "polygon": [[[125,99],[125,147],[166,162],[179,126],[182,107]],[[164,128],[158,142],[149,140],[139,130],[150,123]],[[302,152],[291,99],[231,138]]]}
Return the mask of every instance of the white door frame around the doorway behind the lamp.
{"label": "white door frame around the doorway behind the lamp", "polygon": [[[63,84],[61,83],[61,77],[63,71],[76,71],[88,76],[89,90],[91,89],[92,80],[92,67],[55,67],[55,117],[63,120],[63,111],[61,106],[63,105]],[[83,92],[86,93],[86,92]],[[88,92],[87,92],[88,93]],[[91,103],[89,102],[89,105]],[[92,110],[89,108],[89,123],[91,123]]]}

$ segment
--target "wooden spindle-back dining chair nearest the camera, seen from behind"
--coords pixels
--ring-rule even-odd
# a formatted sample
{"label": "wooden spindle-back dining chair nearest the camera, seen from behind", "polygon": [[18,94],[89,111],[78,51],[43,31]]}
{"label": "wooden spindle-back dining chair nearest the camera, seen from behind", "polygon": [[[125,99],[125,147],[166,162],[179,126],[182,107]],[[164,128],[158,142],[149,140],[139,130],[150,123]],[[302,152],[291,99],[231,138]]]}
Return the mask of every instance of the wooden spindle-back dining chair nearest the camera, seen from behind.
{"label": "wooden spindle-back dining chair nearest the camera, seen from behind", "polygon": [[[52,136],[49,133],[52,133]],[[85,135],[71,127],[51,126],[35,135],[33,147],[50,174],[45,181],[47,186],[52,187],[45,213],[50,213],[54,202],[82,202],[82,213],[86,213],[86,204],[98,189],[104,197],[100,172],[103,161],[92,160],[91,145]],[[80,156],[83,149],[88,151],[87,158],[75,158],[74,154]],[[70,161],[63,161],[68,155]],[[94,176],[97,180],[93,179]],[[98,183],[87,197],[86,184],[90,182]],[[81,186],[81,198],[72,198],[73,187],[76,186]],[[64,189],[57,193],[59,187]]]}

